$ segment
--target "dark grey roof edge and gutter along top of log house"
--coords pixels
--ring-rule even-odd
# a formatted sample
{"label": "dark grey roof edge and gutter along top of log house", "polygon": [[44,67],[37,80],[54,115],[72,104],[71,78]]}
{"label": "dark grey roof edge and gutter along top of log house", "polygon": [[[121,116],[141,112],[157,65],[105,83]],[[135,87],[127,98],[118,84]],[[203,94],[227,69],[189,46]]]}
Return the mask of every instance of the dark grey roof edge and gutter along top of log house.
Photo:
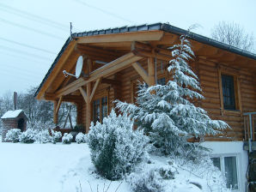
{"label": "dark grey roof edge and gutter along top of log house", "polygon": [[72,33],[71,37],[69,37],[66,42],[64,43],[62,49],[58,52],[58,56],[55,58],[54,62],[52,63],[52,66],[47,71],[46,76],[44,77],[43,81],[40,83],[40,86],[38,87],[37,91],[34,93],[34,97],[37,96],[37,94],[40,92],[41,87],[44,85],[45,81],[47,80],[48,76],[51,74],[52,69],[54,69],[55,64],[58,63],[58,60],[74,38],[80,38],[85,36],[96,36],[96,35],[102,35],[102,34],[113,34],[113,33],[131,33],[131,32],[141,32],[141,31],[153,31],[153,30],[161,30],[163,32],[168,33],[174,33],[177,35],[188,35],[189,39],[198,41],[199,43],[203,43],[205,45],[212,45],[216,48],[220,48],[224,51],[230,51],[235,54],[241,55],[243,57],[248,57],[256,60],[256,54],[253,54],[249,51],[241,50],[235,46],[227,45],[222,42],[216,41],[214,39],[210,39],[207,37],[204,37],[203,35],[199,35],[197,33],[192,33],[188,30],[181,29],[179,27],[174,27],[172,25],[169,25],[168,23],[155,23],[155,24],[144,24],[140,26],[132,26],[132,27],[116,27],[116,28],[108,28],[108,29],[102,29],[102,30],[94,30],[94,31],[88,31],[88,32],[82,32],[82,33]]}

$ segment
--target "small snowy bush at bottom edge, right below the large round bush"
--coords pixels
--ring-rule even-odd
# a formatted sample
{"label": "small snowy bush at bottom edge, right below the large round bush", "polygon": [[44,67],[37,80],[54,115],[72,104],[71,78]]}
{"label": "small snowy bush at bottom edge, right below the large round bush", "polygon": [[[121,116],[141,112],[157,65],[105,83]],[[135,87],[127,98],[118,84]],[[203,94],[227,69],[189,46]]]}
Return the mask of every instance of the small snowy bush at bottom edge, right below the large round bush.
{"label": "small snowy bush at bottom edge, right below the large round bush", "polygon": [[134,192],[163,192],[162,177],[159,171],[151,169],[131,173],[129,183]]}

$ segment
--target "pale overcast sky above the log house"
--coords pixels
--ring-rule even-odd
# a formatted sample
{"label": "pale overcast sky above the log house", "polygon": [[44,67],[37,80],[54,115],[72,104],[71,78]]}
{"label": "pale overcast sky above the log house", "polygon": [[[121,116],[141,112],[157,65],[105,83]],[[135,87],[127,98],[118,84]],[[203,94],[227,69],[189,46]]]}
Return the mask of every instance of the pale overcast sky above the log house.
{"label": "pale overcast sky above the log house", "polygon": [[210,37],[219,21],[256,35],[255,0],[0,0],[0,96],[39,86],[74,32],[169,22]]}

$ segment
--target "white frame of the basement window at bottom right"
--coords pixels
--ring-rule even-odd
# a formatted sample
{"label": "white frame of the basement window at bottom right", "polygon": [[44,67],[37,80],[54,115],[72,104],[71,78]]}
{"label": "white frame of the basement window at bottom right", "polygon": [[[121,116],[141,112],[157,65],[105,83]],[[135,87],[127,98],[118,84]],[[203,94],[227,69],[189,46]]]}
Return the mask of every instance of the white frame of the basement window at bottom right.
{"label": "white frame of the basement window at bottom right", "polygon": [[221,172],[222,175],[225,177],[225,162],[224,158],[228,157],[235,157],[235,163],[236,163],[236,177],[237,177],[237,189],[232,189],[232,192],[239,192],[241,191],[241,173],[240,173],[240,155],[239,153],[222,153],[222,154],[212,154],[210,155],[210,158],[220,158],[220,164],[221,164]]}

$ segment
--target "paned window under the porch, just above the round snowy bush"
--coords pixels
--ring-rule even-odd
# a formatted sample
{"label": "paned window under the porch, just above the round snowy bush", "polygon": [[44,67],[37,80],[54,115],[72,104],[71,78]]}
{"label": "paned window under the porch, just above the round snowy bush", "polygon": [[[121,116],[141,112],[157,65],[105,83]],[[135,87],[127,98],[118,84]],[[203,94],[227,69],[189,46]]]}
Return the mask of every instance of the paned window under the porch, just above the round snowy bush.
{"label": "paned window under the porch, just above the round snowy bush", "polygon": [[104,117],[107,117],[107,96],[93,101],[93,120],[94,123],[101,122]]}

